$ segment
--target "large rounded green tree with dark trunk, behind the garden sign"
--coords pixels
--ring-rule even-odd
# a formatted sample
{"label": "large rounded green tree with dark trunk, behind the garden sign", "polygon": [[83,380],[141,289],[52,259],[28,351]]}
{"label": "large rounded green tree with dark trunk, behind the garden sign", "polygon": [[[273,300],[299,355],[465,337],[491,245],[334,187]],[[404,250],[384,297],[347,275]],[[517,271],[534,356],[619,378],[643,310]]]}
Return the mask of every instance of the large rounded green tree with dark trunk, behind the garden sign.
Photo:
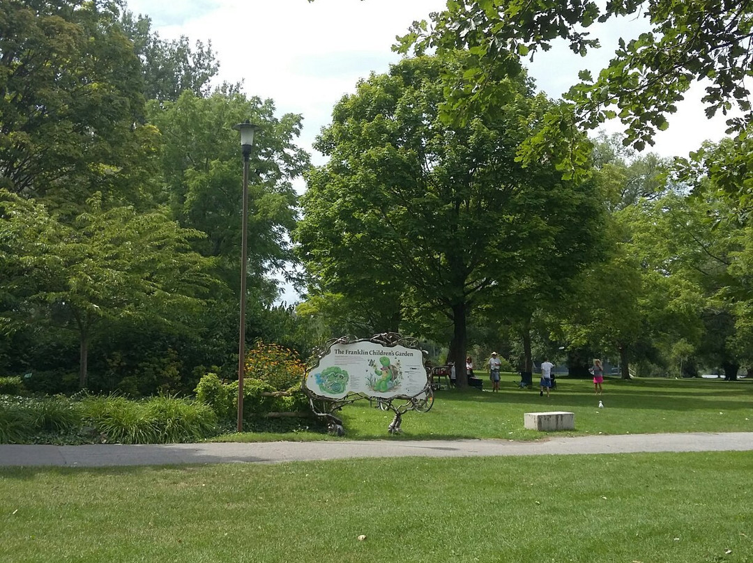
{"label": "large rounded green tree with dark trunk, behind the garden sign", "polygon": [[307,175],[296,239],[325,291],[373,296],[387,284],[404,311],[447,315],[462,385],[474,306],[522,278],[578,272],[600,216],[590,184],[517,163],[550,108],[527,81],[506,81],[496,111],[465,126],[440,120],[439,76],[454,64],[406,59],[343,97],[316,144],[330,162]]}

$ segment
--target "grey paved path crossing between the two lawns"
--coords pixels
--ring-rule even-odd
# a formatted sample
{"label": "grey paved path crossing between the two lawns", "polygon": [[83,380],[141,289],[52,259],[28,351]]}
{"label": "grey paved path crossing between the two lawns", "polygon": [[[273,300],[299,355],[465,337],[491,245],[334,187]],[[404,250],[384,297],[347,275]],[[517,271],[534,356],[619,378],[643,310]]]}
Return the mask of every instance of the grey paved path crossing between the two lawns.
{"label": "grey paved path crossing between the two lawns", "polygon": [[625,434],[508,440],[373,440],[332,442],[200,443],[123,446],[0,445],[0,466],[113,467],[215,463],[279,463],[341,458],[431,458],[475,455],[568,455],[631,452],[753,451],[753,432]]}

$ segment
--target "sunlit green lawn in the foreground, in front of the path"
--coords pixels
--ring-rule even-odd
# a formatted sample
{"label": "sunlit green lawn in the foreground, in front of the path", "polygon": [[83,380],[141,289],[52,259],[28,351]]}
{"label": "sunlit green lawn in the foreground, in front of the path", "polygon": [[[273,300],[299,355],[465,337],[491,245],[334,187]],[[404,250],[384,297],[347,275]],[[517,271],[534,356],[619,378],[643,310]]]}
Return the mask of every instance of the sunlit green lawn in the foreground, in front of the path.
{"label": "sunlit green lawn in the foreground, in front of the path", "polygon": [[739,563],[751,475],[750,452],[0,469],[0,561]]}

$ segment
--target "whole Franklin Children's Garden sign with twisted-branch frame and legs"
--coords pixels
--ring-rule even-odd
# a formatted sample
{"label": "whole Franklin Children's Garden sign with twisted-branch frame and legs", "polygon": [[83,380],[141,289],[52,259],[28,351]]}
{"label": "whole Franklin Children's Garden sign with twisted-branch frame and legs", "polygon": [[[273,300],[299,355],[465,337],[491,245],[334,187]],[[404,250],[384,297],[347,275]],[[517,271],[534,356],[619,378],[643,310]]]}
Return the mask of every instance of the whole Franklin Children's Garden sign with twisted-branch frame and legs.
{"label": "whole Franklin Children's Garden sign with twisted-branch frame and legs", "polygon": [[427,412],[434,404],[424,356],[416,339],[398,333],[367,339],[341,336],[319,351],[316,364],[306,371],[303,392],[312,411],[338,436],[345,430],[334,413],[363,399],[394,412],[387,431],[398,434],[405,412]]}

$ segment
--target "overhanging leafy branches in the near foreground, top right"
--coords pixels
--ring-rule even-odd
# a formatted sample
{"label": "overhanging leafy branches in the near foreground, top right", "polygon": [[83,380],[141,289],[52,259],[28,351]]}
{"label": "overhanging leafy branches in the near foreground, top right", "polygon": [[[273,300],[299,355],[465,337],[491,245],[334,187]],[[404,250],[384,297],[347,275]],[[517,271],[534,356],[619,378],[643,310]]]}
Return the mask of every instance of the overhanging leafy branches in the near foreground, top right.
{"label": "overhanging leafy branches in the near foreground, top right", "polygon": [[[573,0],[486,0],[447,2],[447,8],[426,22],[414,23],[401,38],[400,50],[414,47],[418,53],[438,54],[458,48],[468,50],[462,72],[450,69],[444,83],[452,90],[444,105],[446,117],[468,115],[495,107],[499,76],[519,75],[521,59],[551,48],[564,40],[581,56],[599,47],[588,29],[617,17],[644,17],[649,31],[620,44],[608,66],[594,79],[581,72],[581,82],[566,96],[575,104],[578,121],[596,127],[605,120],[622,120],[626,145],[642,150],[653,145],[653,135],[666,129],[666,115],[694,81],[709,81],[706,115],[723,114],[733,107],[742,118],[728,120],[730,131],[742,131],[750,123],[751,105],[744,79],[750,74],[750,2],[715,0],[639,0],[607,2]],[[567,126],[562,115],[551,114],[553,126]],[[544,138],[534,139],[529,147]],[[562,164],[578,170],[578,162],[566,157]]]}

